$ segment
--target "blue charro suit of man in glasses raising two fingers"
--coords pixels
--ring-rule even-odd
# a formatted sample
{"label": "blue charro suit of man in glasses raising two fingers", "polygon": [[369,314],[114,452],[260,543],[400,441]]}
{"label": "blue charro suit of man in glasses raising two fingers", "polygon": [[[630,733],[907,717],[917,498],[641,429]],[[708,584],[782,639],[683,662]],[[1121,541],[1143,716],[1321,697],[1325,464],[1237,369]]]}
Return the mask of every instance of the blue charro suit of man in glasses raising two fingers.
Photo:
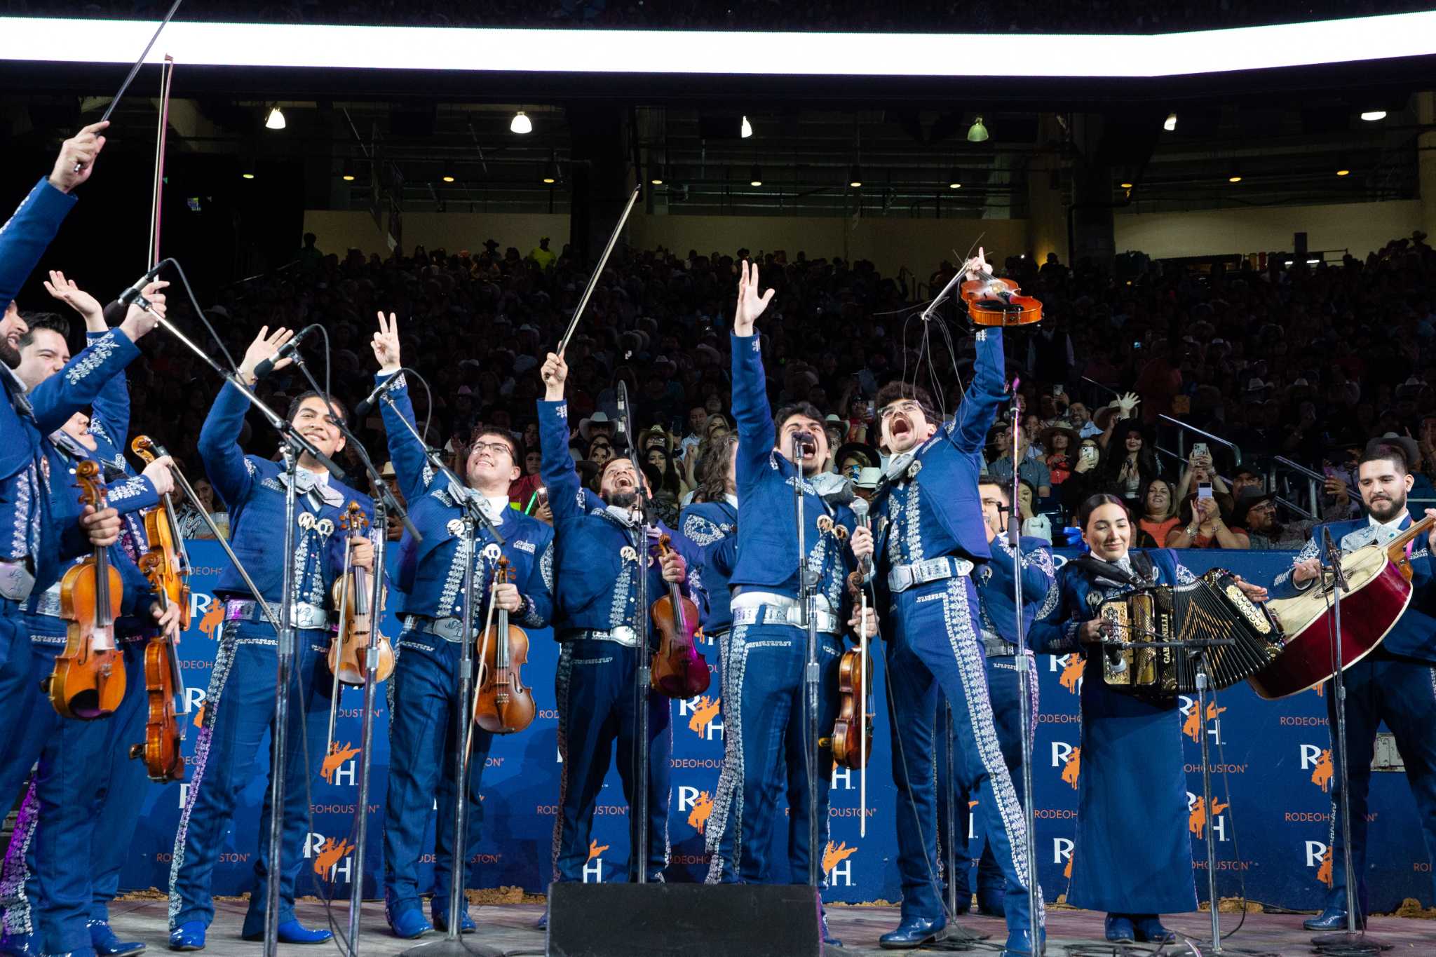
{"label": "blue charro suit of man in glasses raising two fingers", "polygon": [[[382,382],[385,376],[381,376]],[[464,511],[448,482],[435,475],[418,439],[401,422],[414,422],[408,386],[389,389],[398,410],[383,405],[389,458],[409,508],[409,521],[422,541],[409,532],[399,542],[399,603],[404,631],[396,641],[398,661],[389,683],[389,796],[383,822],[385,904],[391,923],[419,908],[418,859],[429,816],[438,803],[432,910],[448,924],[449,887],[454,874],[454,707],[458,696],[458,663],[462,656],[465,550]],[[537,518],[508,508],[507,498],[487,505],[490,521],[504,535],[503,547],[480,525],[474,539],[475,631],[482,630],[498,557],[508,560],[511,581],[524,598],[513,624],[541,628],[553,613],[553,529]],[[475,654],[478,650],[475,649]],[[472,727],[470,760],[470,826],[464,859],[478,852],[484,809],[480,783],[493,735]],[[478,887],[465,868],[465,887]]]}

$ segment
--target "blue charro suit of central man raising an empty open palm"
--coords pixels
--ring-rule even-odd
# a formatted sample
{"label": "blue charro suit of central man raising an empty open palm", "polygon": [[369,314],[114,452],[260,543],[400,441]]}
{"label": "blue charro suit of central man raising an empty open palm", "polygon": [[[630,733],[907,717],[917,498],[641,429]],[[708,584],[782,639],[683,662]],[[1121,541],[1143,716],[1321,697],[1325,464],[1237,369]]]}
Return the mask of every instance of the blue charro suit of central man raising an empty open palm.
{"label": "blue charro suit of central man raising an empty open palm", "polygon": [[[751,884],[775,881],[774,824],[783,819],[780,792],[788,793],[788,880],[808,871],[806,742],[807,630],[796,624],[798,548],[794,486],[804,506],[803,561],[816,574],[823,610],[819,626],[819,729],[827,735],[837,717],[840,628],[847,621],[847,572],[856,565],[847,535],[856,518],[846,505],[829,505],[800,468],[774,451],[777,428],[768,406],[757,336],[732,337],[732,415],[738,429],[738,532],[729,584],[734,626],[724,660],[724,768],[707,829],[708,881],[735,877]],[[724,558],[727,560],[724,552]],[[781,755],[784,760],[775,760]],[[817,805],[827,835],[831,752],[817,752]]]}

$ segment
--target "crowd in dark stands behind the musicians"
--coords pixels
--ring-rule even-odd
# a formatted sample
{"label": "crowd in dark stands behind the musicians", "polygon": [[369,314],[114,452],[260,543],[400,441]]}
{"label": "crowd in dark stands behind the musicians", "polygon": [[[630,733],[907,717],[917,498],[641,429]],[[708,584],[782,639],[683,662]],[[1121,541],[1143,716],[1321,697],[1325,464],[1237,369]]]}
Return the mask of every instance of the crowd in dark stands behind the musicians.
{"label": "crowd in dark stands behind the musicians", "polygon": [[[1423,498],[1436,505],[1427,478],[1436,475],[1436,254],[1425,240],[1417,232],[1315,267],[1298,257],[1288,268],[1281,254],[1264,271],[1150,264],[1130,280],[1086,263],[1068,268],[1055,255],[1041,267],[1008,257],[1007,273],[1043,301],[1044,320],[1007,331],[1021,419],[1015,449],[1010,418],[994,429],[988,473],[1011,481],[1015,462],[1030,531],[1058,542],[1076,505],[1107,491],[1129,501],[1150,544],[1287,547],[1305,535],[1298,519],[1356,514],[1357,455],[1373,438],[1396,436],[1417,475],[1413,506]],[[972,327],[951,304],[939,311],[948,337],[939,320],[919,319],[952,263],[889,277],[872,263],[806,251],[620,250],[567,352],[573,456],[587,478],[626,451],[613,423],[622,379],[661,511],[675,517],[705,494],[704,462],[732,428],[728,329],[745,257],[777,290],[763,329],[771,400],[803,399],[827,415],[833,472],[860,486],[876,481],[883,456],[873,445],[873,399],[886,382],[941,383],[935,399],[952,415],[972,367]],[[323,253],[310,240],[287,268],[220,293],[208,314],[236,354],[260,326],[320,323],[330,362],[314,339],[309,369],[352,407],[373,385],[376,313],[396,313],[404,354],[432,389],[431,400],[411,386],[431,443],[462,455],[475,428],[513,430],[526,452],[513,498],[537,511],[538,366],[587,275],[572,250],[556,254],[547,244],[527,255],[490,240],[477,253],[419,247],[381,258]],[[171,300],[172,314],[192,320],[180,297]],[[162,337],[129,376],[135,429],[197,462],[213,373]],[[260,393],[283,409],[304,387],[287,369]],[[1179,436],[1175,422],[1212,439]],[[352,425],[382,462],[378,413]],[[246,446],[271,440],[263,422],[253,429]],[[1288,466],[1272,481],[1277,456],[1321,476],[1320,501]],[[363,486],[358,456],[350,449],[343,458]],[[721,481],[708,488],[721,494]]]}

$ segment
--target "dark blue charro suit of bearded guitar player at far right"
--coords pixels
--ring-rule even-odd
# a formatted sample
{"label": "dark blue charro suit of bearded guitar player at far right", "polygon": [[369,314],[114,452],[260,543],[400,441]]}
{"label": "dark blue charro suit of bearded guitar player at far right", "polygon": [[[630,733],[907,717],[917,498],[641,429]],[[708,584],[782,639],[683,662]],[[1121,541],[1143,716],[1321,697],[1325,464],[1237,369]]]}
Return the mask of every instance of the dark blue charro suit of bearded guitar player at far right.
{"label": "dark blue charro suit of bearded guitar player at far right", "polygon": [[[1397,529],[1410,528],[1406,515]],[[1354,551],[1373,541],[1386,541],[1393,532],[1383,532],[1369,518],[1331,522],[1331,539],[1343,552]],[[1321,550],[1321,525],[1311,529],[1311,538],[1295,561],[1315,558]],[[1367,791],[1371,785],[1371,759],[1376,732],[1384,722],[1396,736],[1396,748],[1406,765],[1406,782],[1416,799],[1422,839],[1426,842],[1427,862],[1436,861],[1436,561],[1432,558],[1426,535],[1417,535],[1410,550],[1412,601],[1374,651],[1346,670],[1347,750],[1350,753],[1351,788],[1351,869],[1357,878],[1357,908],[1364,920],[1366,892],[1366,834]],[[1310,587],[1310,583],[1308,583]],[[1271,595],[1284,598],[1300,588],[1291,572],[1277,577]],[[1327,694],[1327,716],[1335,727],[1335,694]],[[1346,911],[1346,868],[1343,867],[1344,835],[1337,825],[1340,786],[1340,758],[1331,745],[1331,868],[1333,882],[1327,892],[1327,908]],[[1433,878],[1436,880],[1436,878]],[[1394,905],[1397,901],[1391,901]],[[1380,902],[1384,908],[1386,902]]]}

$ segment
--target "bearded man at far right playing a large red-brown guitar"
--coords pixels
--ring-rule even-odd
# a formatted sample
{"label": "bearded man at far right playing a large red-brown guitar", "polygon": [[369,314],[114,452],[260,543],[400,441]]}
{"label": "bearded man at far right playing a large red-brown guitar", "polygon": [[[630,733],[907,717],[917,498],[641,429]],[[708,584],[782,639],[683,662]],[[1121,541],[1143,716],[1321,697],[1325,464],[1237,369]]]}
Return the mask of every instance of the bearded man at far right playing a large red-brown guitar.
{"label": "bearded man at far right playing a large red-brown guitar", "polygon": [[[1407,449],[1407,443],[1410,448]],[[1331,522],[1311,529],[1311,539],[1297,555],[1290,571],[1277,577],[1272,595],[1282,598],[1305,591],[1321,575],[1323,529],[1343,552],[1370,542],[1386,542],[1412,525],[1406,495],[1413,478],[1414,458],[1410,439],[1380,440],[1367,445],[1357,468],[1357,486],[1366,502],[1367,517]],[[1426,509],[1436,515],[1436,509]],[[1412,547],[1414,545],[1414,547]],[[1436,861],[1436,529],[1409,545],[1412,600],[1380,646],[1346,669],[1346,726],[1350,752],[1351,868],[1357,874],[1357,927],[1366,925],[1366,832],[1367,791],[1371,785],[1371,756],[1376,730],[1386,722],[1396,736],[1396,748],[1406,763],[1406,782],[1416,799],[1427,862]],[[1279,663],[1281,659],[1277,659]],[[1327,694],[1327,715],[1335,727],[1337,700]],[[1337,748],[1331,746],[1335,782],[1331,788],[1331,888],[1321,914],[1305,921],[1307,930],[1344,930],[1347,927],[1347,880],[1341,864],[1346,835],[1338,825],[1341,766]],[[1433,878],[1436,880],[1436,878]]]}

